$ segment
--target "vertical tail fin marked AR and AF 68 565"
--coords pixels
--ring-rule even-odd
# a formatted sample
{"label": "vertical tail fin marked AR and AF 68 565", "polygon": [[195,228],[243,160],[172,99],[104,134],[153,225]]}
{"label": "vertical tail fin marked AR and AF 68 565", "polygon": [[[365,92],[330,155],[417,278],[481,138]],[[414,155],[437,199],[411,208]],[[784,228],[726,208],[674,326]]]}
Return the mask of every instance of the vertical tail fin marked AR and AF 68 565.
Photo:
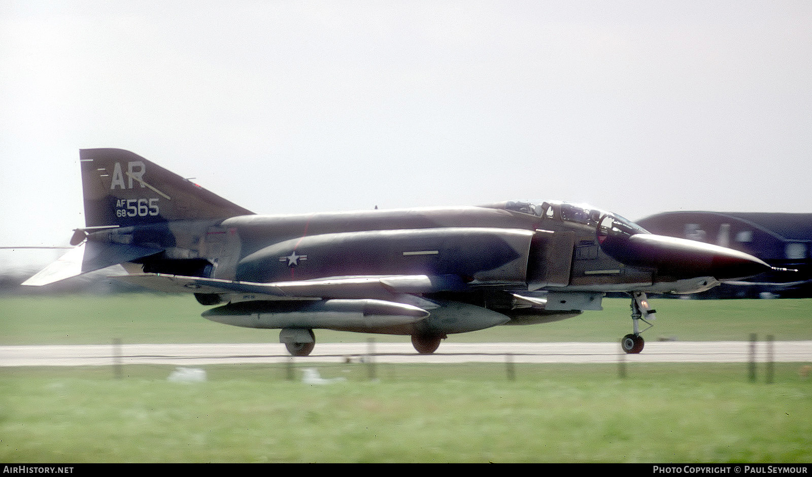
{"label": "vertical tail fin marked AR and AF 68 565", "polygon": [[87,227],[253,214],[123,149],[82,149],[80,161]]}

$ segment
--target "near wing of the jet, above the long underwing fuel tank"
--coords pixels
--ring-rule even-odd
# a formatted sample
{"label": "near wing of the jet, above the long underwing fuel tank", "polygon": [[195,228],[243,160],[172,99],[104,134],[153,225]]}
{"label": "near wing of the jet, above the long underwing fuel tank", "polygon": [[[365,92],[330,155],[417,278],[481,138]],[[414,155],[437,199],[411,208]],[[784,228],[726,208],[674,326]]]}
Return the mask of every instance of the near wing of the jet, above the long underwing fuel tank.
{"label": "near wing of the jet, above the long underwing fuel tank", "polygon": [[162,273],[134,273],[114,277],[133,285],[167,293],[261,294],[268,299],[357,299],[391,297],[393,294],[430,293],[441,290],[467,290],[456,275],[384,275],[369,277],[327,277],[301,281],[222,280],[184,277]]}

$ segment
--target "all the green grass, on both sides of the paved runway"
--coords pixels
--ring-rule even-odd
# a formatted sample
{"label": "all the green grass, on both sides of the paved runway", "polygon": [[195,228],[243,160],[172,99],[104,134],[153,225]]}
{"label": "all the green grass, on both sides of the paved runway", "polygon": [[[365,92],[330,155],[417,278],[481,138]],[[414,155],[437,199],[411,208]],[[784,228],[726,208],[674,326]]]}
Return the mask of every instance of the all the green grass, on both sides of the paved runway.
{"label": "all the green grass, on both sides of the paved runway", "polygon": [[[3,344],[276,342],[202,319],[188,297],[4,297]],[[647,339],[812,339],[812,300],[661,299]],[[553,324],[453,341],[615,341],[626,300]],[[369,335],[317,331],[319,342]],[[376,337],[404,340],[404,337]],[[0,368],[2,462],[812,462],[810,363]],[[304,365],[301,365],[304,366]],[[511,379],[511,376],[512,379]]]}

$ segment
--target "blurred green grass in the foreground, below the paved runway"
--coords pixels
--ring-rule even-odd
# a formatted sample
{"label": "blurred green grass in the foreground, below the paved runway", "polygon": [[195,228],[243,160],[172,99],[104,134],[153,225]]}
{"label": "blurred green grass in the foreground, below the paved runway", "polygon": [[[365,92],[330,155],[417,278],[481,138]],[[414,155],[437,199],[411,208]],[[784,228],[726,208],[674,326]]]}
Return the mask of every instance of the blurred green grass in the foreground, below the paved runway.
{"label": "blurred green grass in the foreground, below the paved runway", "polygon": [[794,364],[4,369],[2,462],[812,461],[812,382]]}

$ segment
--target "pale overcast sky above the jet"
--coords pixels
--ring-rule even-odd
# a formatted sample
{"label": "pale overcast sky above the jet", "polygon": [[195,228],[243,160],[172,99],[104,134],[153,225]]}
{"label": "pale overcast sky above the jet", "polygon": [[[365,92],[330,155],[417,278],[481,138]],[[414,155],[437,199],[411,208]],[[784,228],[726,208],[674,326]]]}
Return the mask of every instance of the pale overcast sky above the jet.
{"label": "pale overcast sky above the jet", "polygon": [[257,213],[812,212],[810,74],[806,0],[2,0],[0,244],[98,147]]}

